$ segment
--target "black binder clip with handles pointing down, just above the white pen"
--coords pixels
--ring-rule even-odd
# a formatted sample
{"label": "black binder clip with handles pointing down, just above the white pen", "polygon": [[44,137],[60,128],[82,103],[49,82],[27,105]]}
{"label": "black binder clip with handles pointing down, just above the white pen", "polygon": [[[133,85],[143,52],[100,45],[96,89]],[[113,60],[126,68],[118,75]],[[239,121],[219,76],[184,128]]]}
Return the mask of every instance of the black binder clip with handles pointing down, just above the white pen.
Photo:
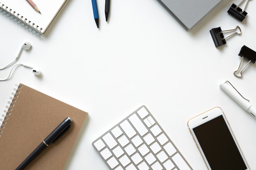
{"label": "black binder clip with handles pointing down, just above the white pen", "polygon": [[[242,46],[241,50],[240,50],[240,53],[238,54],[241,58],[241,61],[240,61],[240,64],[239,64],[239,67],[238,67],[238,70],[237,71],[234,71],[234,75],[238,78],[241,78],[243,75],[242,75],[242,71],[245,69],[245,67],[251,62],[252,64],[255,63],[256,61],[256,52],[253,51],[252,49],[248,48],[247,46]],[[247,62],[247,64],[241,69],[240,71],[240,76],[239,75],[236,75],[236,73],[238,73],[238,71],[240,70],[240,66],[241,66],[241,63],[242,63],[242,60],[243,58],[245,60],[248,60],[249,62]]]}

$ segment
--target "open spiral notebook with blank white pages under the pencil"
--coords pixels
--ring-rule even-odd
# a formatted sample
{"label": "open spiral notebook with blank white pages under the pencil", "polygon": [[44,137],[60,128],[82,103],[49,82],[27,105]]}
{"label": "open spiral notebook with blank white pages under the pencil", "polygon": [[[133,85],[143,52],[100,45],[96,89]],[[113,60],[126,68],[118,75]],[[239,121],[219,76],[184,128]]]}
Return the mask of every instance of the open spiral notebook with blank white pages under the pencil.
{"label": "open spiral notebook with blank white pages under the pencil", "polygon": [[67,0],[33,0],[40,13],[26,0],[0,0],[0,12],[34,32],[45,34]]}

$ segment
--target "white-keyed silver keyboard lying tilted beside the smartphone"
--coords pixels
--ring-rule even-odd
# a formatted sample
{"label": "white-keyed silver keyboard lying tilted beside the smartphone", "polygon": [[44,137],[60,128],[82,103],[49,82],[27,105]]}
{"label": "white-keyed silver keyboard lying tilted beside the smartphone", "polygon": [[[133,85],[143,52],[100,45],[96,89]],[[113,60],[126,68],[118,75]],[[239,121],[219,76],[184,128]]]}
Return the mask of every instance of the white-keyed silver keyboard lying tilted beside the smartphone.
{"label": "white-keyed silver keyboard lying tilted beside the smartphone", "polygon": [[146,106],[92,142],[110,170],[192,170]]}

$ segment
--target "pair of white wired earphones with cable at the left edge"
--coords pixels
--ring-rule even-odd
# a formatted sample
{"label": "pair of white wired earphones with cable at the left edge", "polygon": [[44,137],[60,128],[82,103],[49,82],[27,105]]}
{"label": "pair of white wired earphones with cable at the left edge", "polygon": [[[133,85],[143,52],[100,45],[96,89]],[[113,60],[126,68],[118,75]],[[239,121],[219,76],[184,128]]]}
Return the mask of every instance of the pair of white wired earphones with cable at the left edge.
{"label": "pair of white wired earphones with cable at the left edge", "polygon": [[[22,50],[23,50],[23,49],[24,49],[24,50],[28,50],[28,49],[30,49],[30,47],[31,47],[30,42],[24,42],[24,43],[22,44],[22,47],[20,48],[20,51],[18,52],[18,55],[17,55],[17,57],[15,58],[15,60],[14,60],[13,62],[11,62],[10,64],[8,64],[7,66],[5,66],[5,67],[3,67],[3,68],[0,68],[0,70],[3,70],[3,69],[5,69],[5,68],[9,67],[9,66],[10,66],[11,64],[13,64],[14,62],[16,62],[16,61],[18,60],[18,58],[20,57],[20,54],[21,54]],[[11,68],[11,72],[13,71],[13,69],[14,69],[16,66],[24,66],[24,67],[27,67],[27,68],[32,68],[32,69],[31,69],[31,73],[33,73],[34,75],[39,75],[39,74],[41,73],[38,68],[34,68],[34,67],[30,66],[29,64],[16,64],[15,66],[13,66],[13,68]],[[0,81],[5,81],[5,80],[9,79],[9,77],[11,76],[11,72],[10,72],[9,76],[8,76],[6,79],[0,79]]]}

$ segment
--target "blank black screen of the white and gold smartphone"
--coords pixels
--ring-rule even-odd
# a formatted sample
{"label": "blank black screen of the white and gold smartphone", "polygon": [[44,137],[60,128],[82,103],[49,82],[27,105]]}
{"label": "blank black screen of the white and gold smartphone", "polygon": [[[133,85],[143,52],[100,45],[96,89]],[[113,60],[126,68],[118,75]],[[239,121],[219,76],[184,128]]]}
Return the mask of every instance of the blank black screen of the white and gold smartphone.
{"label": "blank black screen of the white and gold smartphone", "polygon": [[193,131],[212,170],[247,169],[222,115]]}

